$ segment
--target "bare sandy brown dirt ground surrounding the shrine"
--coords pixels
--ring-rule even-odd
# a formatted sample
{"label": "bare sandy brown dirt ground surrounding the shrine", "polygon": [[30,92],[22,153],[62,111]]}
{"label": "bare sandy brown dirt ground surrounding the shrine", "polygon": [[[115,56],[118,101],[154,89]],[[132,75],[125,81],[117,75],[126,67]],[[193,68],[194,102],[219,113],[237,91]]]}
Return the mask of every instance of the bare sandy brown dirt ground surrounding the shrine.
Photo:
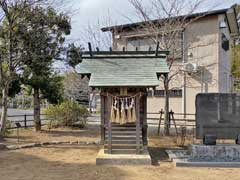
{"label": "bare sandy brown dirt ground surrounding the shrine", "polygon": [[[84,131],[84,132],[82,132]],[[36,137],[38,135],[38,137]],[[23,138],[24,137],[24,138]],[[97,129],[58,129],[31,133],[22,131],[28,141],[46,141],[58,138],[73,140],[98,139]],[[16,140],[14,136],[7,142]],[[0,180],[239,180],[239,169],[230,168],[179,168],[168,161],[165,149],[179,148],[174,137],[149,138],[152,166],[96,166],[95,158],[101,146],[54,145],[15,151],[0,151]],[[187,143],[190,143],[188,140]]]}

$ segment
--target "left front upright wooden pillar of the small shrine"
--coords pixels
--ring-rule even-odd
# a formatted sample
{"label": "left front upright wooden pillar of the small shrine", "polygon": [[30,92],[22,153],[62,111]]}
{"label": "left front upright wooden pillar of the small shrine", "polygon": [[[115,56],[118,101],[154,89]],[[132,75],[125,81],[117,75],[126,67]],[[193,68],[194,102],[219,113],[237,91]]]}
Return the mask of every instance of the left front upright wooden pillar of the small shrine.
{"label": "left front upright wooden pillar of the small shrine", "polygon": [[107,96],[107,119],[108,119],[108,154],[112,154],[112,122],[111,122],[112,99]]}

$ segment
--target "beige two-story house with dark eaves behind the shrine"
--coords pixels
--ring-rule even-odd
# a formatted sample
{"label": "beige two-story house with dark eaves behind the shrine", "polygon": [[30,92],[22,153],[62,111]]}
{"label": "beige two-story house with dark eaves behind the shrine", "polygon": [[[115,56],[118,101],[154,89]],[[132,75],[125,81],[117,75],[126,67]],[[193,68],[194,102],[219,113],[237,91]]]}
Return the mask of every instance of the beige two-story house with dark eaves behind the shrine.
{"label": "beige two-story house with dark eaves behind the shrine", "polygon": [[[236,17],[234,8],[188,16],[195,20],[180,30],[181,55],[176,58],[175,67],[170,72],[179,71],[170,83],[170,109],[174,112],[195,113],[198,93],[231,92],[230,44],[231,37],[239,31]],[[158,21],[161,20],[152,23]],[[143,23],[105,27],[102,31],[111,31],[114,50],[154,50],[156,42],[144,28],[141,31]],[[163,108],[164,88],[150,89],[148,112],[158,112]]]}

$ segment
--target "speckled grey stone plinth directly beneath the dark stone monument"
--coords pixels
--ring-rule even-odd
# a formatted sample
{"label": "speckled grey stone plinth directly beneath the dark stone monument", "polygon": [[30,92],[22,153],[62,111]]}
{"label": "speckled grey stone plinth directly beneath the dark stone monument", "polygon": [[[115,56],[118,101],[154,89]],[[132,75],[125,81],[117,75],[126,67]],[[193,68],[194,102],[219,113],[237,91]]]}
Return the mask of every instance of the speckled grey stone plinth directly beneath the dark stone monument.
{"label": "speckled grey stone plinth directly beneath the dark stone monument", "polygon": [[240,145],[217,144],[207,146],[192,144],[190,145],[189,151],[192,157],[240,159]]}

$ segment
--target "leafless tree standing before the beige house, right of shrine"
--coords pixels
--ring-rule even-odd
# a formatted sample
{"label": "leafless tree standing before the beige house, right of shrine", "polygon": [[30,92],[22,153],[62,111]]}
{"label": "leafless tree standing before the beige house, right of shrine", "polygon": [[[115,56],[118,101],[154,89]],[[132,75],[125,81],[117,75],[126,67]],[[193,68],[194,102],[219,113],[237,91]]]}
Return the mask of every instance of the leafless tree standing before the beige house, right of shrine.
{"label": "leafless tree standing before the beige house, right of shrine", "polygon": [[179,84],[181,76],[186,81],[182,63],[177,61],[183,59],[184,63],[184,49],[186,49],[184,47],[186,44],[182,42],[184,31],[192,22],[206,15],[202,13],[190,16],[201,8],[205,0],[150,0],[149,7],[144,6],[141,0],[129,0],[129,2],[143,21],[139,26],[134,27],[134,30],[148,36],[152,44],[158,42],[161,50],[170,51],[167,59],[170,73],[161,77],[165,90],[164,134],[169,135],[169,89],[177,79]]}

